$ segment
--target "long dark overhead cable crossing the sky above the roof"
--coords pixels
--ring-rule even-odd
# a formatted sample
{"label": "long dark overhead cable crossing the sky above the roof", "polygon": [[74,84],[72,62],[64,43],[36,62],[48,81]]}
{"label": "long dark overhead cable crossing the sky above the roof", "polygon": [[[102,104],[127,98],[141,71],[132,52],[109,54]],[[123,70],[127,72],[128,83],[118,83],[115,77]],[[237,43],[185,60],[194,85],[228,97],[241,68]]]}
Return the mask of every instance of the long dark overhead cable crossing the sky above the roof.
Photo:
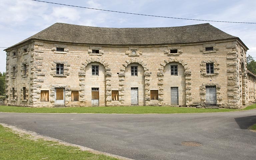
{"label": "long dark overhead cable crossing the sky above the roof", "polygon": [[105,10],[105,9],[97,9],[97,8],[81,7],[81,6],[74,6],[74,5],[67,5],[67,4],[53,3],[53,2],[46,2],[46,1],[39,1],[39,0],[31,0],[31,1],[44,2],[44,3],[51,3],[51,4],[58,4],[58,5],[70,6],[70,7],[78,7],[78,8],[94,9],[94,10],[107,11],[107,12],[116,12],[116,13],[124,13],[124,14],[132,14],[132,15],[140,15],[140,16],[150,16],[150,17],[160,17],[160,18],[172,18],[172,19],[181,19],[181,20],[192,20],[192,21],[207,21],[207,22],[224,22],[224,23],[256,24],[256,23],[252,23],[252,22],[212,21],[212,20],[198,20],[198,19],[189,19],[189,18],[177,18],[177,17],[154,16],[154,15],[146,15],[146,14],[138,14],[138,13],[119,12],[119,11],[111,11],[111,10]]}

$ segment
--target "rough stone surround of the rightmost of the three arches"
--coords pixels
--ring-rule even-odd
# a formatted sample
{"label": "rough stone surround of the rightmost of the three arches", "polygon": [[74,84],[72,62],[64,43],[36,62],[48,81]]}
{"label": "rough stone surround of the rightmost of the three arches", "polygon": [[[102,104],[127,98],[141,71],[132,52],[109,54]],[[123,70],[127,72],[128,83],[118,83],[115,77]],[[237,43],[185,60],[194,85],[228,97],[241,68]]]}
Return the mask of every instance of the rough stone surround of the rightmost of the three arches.
{"label": "rough stone surround of the rightmost of the three arches", "polygon": [[164,103],[164,67],[168,64],[168,63],[172,63],[172,62],[176,62],[181,64],[184,67],[184,75],[185,75],[185,89],[186,89],[186,106],[190,106],[190,102],[192,100],[191,97],[191,70],[189,68],[189,66],[187,65],[188,63],[185,62],[183,59],[180,58],[169,58],[164,60],[163,63],[160,64],[159,67],[159,72],[157,72],[157,76],[158,76],[158,88],[159,88],[159,97],[158,100],[160,101],[161,105],[166,105]]}

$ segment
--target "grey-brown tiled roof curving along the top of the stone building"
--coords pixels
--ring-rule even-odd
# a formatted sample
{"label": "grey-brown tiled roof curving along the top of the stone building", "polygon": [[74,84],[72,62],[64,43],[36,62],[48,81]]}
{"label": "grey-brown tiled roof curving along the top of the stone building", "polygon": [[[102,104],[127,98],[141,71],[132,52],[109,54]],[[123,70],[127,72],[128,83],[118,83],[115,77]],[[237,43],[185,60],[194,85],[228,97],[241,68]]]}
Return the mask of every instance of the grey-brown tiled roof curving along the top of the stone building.
{"label": "grey-brown tiled roof curving along the top of the stone building", "polygon": [[55,23],[17,44],[31,39],[38,39],[88,44],[150,45],[204,42],[232,38],[239,39],[213,27],[209,23],[162,28],[102,28]]}

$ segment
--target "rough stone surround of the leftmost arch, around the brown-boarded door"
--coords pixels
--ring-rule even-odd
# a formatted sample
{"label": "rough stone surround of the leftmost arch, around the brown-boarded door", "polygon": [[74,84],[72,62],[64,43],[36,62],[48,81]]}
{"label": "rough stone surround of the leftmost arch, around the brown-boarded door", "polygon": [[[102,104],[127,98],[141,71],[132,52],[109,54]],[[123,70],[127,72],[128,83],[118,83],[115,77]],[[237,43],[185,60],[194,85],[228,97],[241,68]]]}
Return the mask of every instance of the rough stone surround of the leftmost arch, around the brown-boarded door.
{"label": "rough stone surround of the leftmost arch, around the brown-boarded door", "polygon": [[[109,67],[109,64],[105,62],[103,58],[88,58],[86,61],[82,63],[82,66],[80,67],[81,72],[78,72],[79,75],[79,101],[85,103],[85,85],[89,85],[88,83],[90,82],[85,82],[86,79],[86,67],[90,63],[97,62],[98,64],[101,64],[105,68],[105,84],[104,84],[104,101],[105,101],[105,106],[108,101],[111,101],[111,83],[110,83],[110,78],[111,78],[111,69]],[[91,106],[91,105],[86,105],[85,106]]]}

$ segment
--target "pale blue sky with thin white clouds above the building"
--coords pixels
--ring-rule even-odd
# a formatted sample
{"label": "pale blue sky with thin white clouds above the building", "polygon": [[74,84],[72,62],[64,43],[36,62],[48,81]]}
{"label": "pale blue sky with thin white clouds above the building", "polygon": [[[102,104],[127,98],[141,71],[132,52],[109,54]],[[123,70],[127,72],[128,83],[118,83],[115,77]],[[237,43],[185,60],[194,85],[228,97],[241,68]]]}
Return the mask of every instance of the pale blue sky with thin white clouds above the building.
{"label": "pale blue sky with thin white clouds above the building", "polygon": [[[256,23],[256,1],[253,0],[44,0],[89,8],[138,14]],[[140,28],[174,27],[210,23],[239,37],[256,59],[256,24],[218,23],[147,17],[75,8],[31,0],[1,0],[0,47],[12,46],[54,23],[95,27]],[[6,53],[0,50],[0,71],[5,71]]]}

